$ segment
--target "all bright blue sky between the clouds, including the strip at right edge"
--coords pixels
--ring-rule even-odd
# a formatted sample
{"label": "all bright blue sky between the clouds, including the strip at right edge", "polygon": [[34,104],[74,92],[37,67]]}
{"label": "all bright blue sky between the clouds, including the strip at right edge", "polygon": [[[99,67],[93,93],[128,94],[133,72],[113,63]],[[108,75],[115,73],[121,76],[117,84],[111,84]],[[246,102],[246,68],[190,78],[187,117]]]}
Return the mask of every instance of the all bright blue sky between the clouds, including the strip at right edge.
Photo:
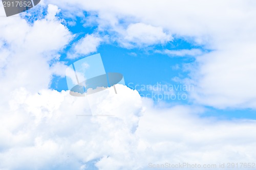
{"label": "all bright blue sky between the clouds, including the strip at right edge", "polygon": [[[67,65],[69,65],[81,58],[100,53],[105,71],[122,73],[125,78],[126,86],[138,90],[141,96],[148,96],[156,103],[160,101],[167,102],[170,104],[170,106],[174,104],[193,105],[193,101],[189,98],[189,96],[186,97],[186,100],[178,100],[176,98],[158,99],[158,96],[153,98],[154,94],[152,91],[140,90],[139,88],[146,85],[154,86],[157,84],[180,88],[180,86],[185,84],[183,80],[190,78],[189,70],[185,69],[184,67],[186,64],[194,64],[196,60],[195,57],[191,55],[184,55],[182,57],[176,55],[167,55],[158,53],[157,51],[163,51],[166,49],[179,51],[196,48],[201,50],[203,54],[210,53],[212,50],[207,48],[205,45],[197,44],[191,38],[179,36],[174,36],[172,41],[165,44],[156,44],[147,47],[135,46],[133,48],[125,48],[116,42],[105,42],[100,44],[97,47],[97,51],[94,53],[80,55],[76,59],[69,59],[67,58],[67,54],[70,51],[71,45],[76,41],[79,41],[79,39],[82,39],[87,34],[97,32],[98,28],[97,25],[84,26],[84,22],[86,22],[84,17],[88,16],[86,12],[84,12],[84,16],[82,17],[65,18],[61,12],[58,14],[58,16],[65,19],[66,22],[74,22],[74,25],[67,25],[67,27],[70,32],[77,34],[75,39],[71,41],[65,50],[61,52],[60,61],[64,61]],[[180,80],[175,81],[174,78],[179,78]],[[186,85],[189,86],[190,84]],[[68,90],[66,78],[53,76],[50,88],[57,91]],[[181,90],[180,92],[185,92],[187,94],[187,91]],[[253,109],[216,109],[210,106],[205,106],[205,108],[207,111],[202,115],[203,117],[214,116],[217,119],[256,118]]]}

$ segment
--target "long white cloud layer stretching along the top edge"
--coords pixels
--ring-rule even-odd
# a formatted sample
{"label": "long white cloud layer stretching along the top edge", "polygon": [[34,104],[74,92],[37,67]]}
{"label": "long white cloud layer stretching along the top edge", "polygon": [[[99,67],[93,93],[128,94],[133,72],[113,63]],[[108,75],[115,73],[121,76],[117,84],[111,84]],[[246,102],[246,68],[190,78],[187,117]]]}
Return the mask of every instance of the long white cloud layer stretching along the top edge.
{"label": "long white cloud layer stretching along the top edge", "polygon": [[[69,11],[74,15],[77,9],[93,13],[94,16],[96,13],[98,27],[104,31],[116,32],[118,35],[127,26],[141,23],[167,30],[178,37],[190,37],[197,43],[210,46],[217,45],[216,40],[225,41],[234,34],[241,35],[238,30],[244,29],[243,25],[250,27],[247,21],[250,21],[254,15],[251,8],[254,4],[250,1],[226,1],[222,5],[220,5],[221,1],[208,3],[202,0],[194,3],[167,0],[160,3],[134,0],[122,2],[51,0],[49,2],[63,8],[75,7],[76,10]],[[125,34],[121,36],[125,37]],[[119,37],[120,40],[123,37]]]}

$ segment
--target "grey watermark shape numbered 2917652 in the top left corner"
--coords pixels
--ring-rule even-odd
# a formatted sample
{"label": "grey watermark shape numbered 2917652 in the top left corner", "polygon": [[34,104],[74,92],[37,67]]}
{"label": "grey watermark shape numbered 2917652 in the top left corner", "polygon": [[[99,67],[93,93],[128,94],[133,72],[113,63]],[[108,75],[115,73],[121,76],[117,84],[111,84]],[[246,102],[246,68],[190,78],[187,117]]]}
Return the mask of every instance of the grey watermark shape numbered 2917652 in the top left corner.
{"label": "grey watermark shape numbered 2917652 in the top left corner", "polygon": [[2,0],[7,17],[27,11],[39,4],[39,2],[40,0]]}

